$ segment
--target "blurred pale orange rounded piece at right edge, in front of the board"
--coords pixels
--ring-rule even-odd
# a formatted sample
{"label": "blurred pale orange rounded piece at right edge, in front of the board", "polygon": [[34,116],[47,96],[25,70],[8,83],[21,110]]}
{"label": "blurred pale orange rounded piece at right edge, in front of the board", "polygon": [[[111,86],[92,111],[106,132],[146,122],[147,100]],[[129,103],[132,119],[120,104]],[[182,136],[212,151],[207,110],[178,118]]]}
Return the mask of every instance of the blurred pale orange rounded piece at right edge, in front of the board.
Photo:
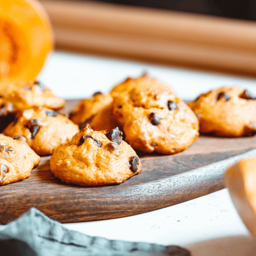
{"label": "blurred pale orange rounded piece at right edge, in front of the board", "polygon": [[245,226],[256,238],[256,157],[229,167],[225,185]]}

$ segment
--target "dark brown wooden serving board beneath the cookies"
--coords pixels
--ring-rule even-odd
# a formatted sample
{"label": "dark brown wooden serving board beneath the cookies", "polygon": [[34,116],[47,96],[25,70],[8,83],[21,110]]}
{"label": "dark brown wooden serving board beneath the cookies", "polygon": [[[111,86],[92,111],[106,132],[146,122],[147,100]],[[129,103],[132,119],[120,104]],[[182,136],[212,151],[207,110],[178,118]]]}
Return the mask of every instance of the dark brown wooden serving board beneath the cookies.
{"label": "dark brown wooden serving board beneath the cookies", "polygon": [[[78,100],[67,101],[66,111],[77,103]],[[67,185],[51,173],[50,156],[42,157],[28,179],[0,187],[0,223],[17,219],[30,207],[68,223],[126,217],[179,204],[224,187],[223,172],[210,169],[198,175],[195,169],[254,148],[256,136],[200,136],[192,146],[175,155],[138,152],[140,174],[120,185],[102,187]]]}

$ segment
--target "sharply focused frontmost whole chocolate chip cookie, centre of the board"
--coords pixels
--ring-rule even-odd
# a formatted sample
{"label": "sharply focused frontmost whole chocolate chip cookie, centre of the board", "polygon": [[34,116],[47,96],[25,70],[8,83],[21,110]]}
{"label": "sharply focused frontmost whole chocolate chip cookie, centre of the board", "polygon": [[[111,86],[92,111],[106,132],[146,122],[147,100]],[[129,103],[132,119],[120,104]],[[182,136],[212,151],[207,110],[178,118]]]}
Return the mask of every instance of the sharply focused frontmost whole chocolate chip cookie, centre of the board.
{"label": "sharply focused frontmost whole chocolate chip cookie, centre of the board", "polygon": [[118,128],[93,131],[89,124],[54,150],[50,166],[55,177],[80,186],[122,183],[142,169],[139,157],[122,140]]}

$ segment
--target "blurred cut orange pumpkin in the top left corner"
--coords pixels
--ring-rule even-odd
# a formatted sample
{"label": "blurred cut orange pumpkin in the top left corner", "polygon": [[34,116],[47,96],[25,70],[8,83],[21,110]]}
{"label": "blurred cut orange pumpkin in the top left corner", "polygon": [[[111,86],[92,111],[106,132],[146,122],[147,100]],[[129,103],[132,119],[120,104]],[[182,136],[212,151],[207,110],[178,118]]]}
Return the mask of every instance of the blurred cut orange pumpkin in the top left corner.
{"label": "blurred cut orange pumpkin in the top left corner", "polygon": [[0,80],[37,78],[52,50],[52,28],[41,4],[0,0]]}

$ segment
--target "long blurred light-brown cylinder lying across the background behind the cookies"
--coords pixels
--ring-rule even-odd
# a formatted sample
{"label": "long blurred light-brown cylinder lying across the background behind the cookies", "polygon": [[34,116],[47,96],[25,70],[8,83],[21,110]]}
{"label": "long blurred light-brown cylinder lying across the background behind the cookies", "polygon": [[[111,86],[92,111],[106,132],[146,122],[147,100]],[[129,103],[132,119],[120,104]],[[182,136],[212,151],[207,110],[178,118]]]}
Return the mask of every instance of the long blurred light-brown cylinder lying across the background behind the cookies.
{"label": "long blurred light-brown cylinder lying across the background behind the cookies", "polygon": [[99,3],[41,0],[57,49],[256,75],[256,22]]}

